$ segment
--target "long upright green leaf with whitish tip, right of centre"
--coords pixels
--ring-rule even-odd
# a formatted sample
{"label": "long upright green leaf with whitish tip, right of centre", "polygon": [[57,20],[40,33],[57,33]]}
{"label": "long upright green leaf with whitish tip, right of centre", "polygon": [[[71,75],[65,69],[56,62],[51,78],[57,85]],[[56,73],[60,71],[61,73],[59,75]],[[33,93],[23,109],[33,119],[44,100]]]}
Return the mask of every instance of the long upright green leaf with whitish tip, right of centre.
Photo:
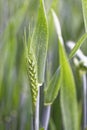
{"label": "long upright green leaf with whitish tip, right of centre", "polygon": [[[55,17],[54,17],[55,16]],[[53,14],[55,27],[57,24],[57,16]],[[61,77],[61,108],[65,130],[78,130],[78,113],[77,113],[77,100],[76,90],[73,78],[73,73],[69,65],[64,44],[61,43],[62,35],[58,33],[59,40],[59,57],[60,57],[60,77]],[[63,38],[62,38],[63,39]]]}

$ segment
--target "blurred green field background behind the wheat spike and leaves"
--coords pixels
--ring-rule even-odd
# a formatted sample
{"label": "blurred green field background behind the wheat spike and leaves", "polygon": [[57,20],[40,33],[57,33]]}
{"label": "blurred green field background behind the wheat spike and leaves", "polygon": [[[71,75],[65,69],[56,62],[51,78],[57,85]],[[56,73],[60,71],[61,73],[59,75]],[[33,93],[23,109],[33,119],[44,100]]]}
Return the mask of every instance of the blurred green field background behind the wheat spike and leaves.
{"label": "blurred green field background behind the wheat spike and leaves", "polygon": [[[31,38],[37,20],[39,0],[0,0],[0,130],[30,130],[32,114],[31,95],[25,71],[24,28]],[[77,41],[84,33],[81,0],[45,0],[49,28],[49,45],[46,65],[46,81],[56,71],[58,39],[51,16],[51,8],[57,13],[67,54],[66,42]],[[82,46],[84,54],[86,43]],[[73,63],[80,124],[82,123],[82,81]],[[49,130],[63,130],[60,95],[52,105]],[[82,127],[82,125],[81,125]]]}

